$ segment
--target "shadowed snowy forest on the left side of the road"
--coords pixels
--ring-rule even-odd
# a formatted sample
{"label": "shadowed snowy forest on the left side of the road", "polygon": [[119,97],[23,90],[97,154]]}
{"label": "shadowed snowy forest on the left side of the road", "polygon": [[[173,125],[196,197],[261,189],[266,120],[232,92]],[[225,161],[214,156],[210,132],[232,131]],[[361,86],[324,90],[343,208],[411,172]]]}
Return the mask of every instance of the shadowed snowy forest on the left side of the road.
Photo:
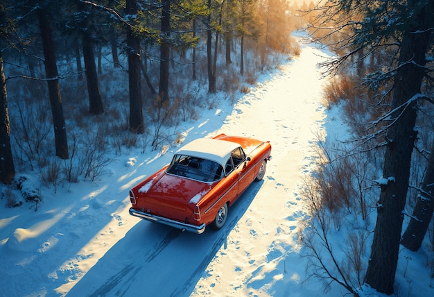
{"label": "shadowed snowy forest on the left side of the road", "polygon": [[[15,167],[19,171],[37,168],[55,182],[57,177],[51,174],[59,171],[58,160],[46,160],[46,156],[71,163],[78,158],[74,153],[83,138],[68,135],[68,126],[86,129],[86,121],[105,121],[98,128],[101,137],[108,131],[119,133],[114,148],[140,145],[148,137],[154,148],[173,141],[173,135],[162,135],[162,126],[194,117],[197,108],[212,104],[197,98],[197,85],[207,84],[209,93],[225,90],[230,96],[242,87],[240,76],[254,83],[257,71],[275,67],[270,53],[294,50],[290,32],[297,25],[289,17],[297,6],[285,1],[1,4],[4,106],[6,92],[10,98],[21,99],[12,102],[17,110],[8,116],[5,109],[2,116],[6,123],[2,142],[6,147],[12,142],[12,149],[2,151],[0,176],[5,184],[12,183]],[[239,57],[236,61],[234,51]],[[180,75],[186,79],[177,79]],[[114,87],[112,77],[125,81],[116,100],[105,96]],[[125,100],[119,110],[115,104]],[[48,106],[54,137],[47,126]],[[178,110],[181,116],[176,115]],[[104,116],[92,117],[100,114]],[[50,138],[54,145],[47,145]],[[69,168],[67,179],[73,182],[82,173],[89,176],[88,169]]]}

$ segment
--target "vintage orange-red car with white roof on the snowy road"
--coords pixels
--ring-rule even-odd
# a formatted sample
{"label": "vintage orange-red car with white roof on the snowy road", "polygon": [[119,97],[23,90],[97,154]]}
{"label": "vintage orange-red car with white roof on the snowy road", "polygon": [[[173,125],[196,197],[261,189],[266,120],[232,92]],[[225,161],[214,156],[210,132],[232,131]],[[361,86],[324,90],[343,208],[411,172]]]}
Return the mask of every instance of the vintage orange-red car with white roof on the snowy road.
{"label": "vintage orange-red car with white roof on the snowy road", "polygon": [[130,214],[198,234],[220,229],[228,207],[265,176],[270,153],[270,142],[248,137],[193,140],[130,190]]}

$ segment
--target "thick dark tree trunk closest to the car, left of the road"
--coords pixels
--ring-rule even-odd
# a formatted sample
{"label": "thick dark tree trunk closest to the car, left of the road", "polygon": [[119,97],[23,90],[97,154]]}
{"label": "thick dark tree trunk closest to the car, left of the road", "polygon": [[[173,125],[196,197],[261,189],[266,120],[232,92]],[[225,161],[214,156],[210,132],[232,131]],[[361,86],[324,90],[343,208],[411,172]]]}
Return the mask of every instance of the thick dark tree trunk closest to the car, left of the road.
{"label": "thick dark tree trunk closest to the car, left of the road", "polygon": [[[128,15],[137,14],[137,3],[135,0],[126,1],[126,13]],[[128,45],[128,87],[130,92],[130,131],[133,133],[144,133],[143,103],[141,100],[141,81],[140,81],[140,43],[134,37],[131,26],[127,28]]]}

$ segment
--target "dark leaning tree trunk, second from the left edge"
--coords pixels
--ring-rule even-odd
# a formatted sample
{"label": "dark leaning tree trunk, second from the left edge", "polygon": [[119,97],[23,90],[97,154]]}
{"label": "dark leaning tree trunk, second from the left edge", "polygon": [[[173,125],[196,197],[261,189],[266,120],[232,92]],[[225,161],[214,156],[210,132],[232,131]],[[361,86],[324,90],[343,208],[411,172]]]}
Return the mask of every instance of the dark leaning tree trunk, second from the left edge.
{"label": "dark leaning tree trunk, second from the left edge", "polygon": [[40,25],[42,47],[44,48],[45,73],[49,87],[51,113],[53,114],[55,155],[61,159],[68,159],[67,128],[63,116],[62,97],[60,96],[58,80],[58,67],[55,64],[55,53],[49,18],[46,17],[42,10],[37,10],[37,17]]}

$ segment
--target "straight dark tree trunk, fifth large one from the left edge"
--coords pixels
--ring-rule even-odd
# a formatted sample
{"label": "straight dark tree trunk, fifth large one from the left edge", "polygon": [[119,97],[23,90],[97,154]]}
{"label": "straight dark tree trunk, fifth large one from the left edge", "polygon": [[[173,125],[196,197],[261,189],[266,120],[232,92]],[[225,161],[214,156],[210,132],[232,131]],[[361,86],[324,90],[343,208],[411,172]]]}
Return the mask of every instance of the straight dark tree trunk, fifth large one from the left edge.
{"label": "straight dark tree trunk, fifth large one from the left edge", "polygon": [[162,0],[162,35],[159,59],[159,98],[161,102],[168,102],[168,69],[170,60],[170,46],[168,37],[171,35],[171,0]]}

